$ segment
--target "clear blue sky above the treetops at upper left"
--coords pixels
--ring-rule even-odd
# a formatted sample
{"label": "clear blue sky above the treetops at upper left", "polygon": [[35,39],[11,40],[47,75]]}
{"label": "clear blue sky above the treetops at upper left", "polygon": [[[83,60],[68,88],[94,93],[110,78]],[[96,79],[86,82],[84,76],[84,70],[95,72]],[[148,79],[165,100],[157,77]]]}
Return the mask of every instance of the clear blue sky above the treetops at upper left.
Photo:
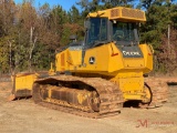
{"label": "clear blue sky above the treetops at upper left", "polygon": [[[22,3],[23,0],[14,0],[15,3]],[[62,6],[62,8],[65,11],[69,11],[71,9],[71,7],[74,4],[76,6],[76,2],[79,2],[80,0],[34,0],[34,4],[38,7],[39,3],[43,4],[43,3],[49,3],[51,7],[60,4]],[[76,6],[77,7],[77,6]]]}

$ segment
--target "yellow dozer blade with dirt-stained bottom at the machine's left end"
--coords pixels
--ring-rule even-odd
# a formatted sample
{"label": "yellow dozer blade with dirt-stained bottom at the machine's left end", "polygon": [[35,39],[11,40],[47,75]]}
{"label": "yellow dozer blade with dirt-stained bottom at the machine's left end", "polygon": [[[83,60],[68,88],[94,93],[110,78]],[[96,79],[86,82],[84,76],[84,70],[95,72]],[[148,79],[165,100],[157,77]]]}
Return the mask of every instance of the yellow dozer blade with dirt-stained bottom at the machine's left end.
{"label": "yellow dozer blade with dirt-stained bottom at the machine's left end", "polygon": [[39,78],[38,73],[21,73],[12,76],[13,88],[9,101],[32,96],[33,82]]}

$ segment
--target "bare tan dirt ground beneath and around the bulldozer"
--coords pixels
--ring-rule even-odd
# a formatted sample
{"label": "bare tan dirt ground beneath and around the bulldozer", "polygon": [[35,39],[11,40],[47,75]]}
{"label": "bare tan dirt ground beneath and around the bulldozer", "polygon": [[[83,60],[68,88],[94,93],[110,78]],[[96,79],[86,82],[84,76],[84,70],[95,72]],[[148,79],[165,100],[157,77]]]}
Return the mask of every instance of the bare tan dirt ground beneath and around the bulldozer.
{"label": "bare tan dirt ground beneath and around the bulldozer", "polygon": [[176,133],[177,85],[157,109],[124,108],[116,116],[87,119],[33,103],[32,99],[8,102],[11,84],[0,82],[0,133]]}

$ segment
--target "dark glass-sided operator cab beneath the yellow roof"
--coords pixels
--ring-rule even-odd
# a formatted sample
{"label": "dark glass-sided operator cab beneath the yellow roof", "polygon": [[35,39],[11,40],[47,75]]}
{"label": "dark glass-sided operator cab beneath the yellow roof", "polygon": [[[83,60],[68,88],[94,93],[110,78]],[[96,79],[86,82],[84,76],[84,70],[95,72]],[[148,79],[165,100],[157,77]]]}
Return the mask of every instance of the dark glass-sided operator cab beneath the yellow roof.
{"label": "dark glass-sided operator cab beneath the yellow roof", "polygon": [[114,41],[116,45],[138,45],[138,24],[108,20],[107,18],[90,18],[85,22],[85,47],[87,49]]}

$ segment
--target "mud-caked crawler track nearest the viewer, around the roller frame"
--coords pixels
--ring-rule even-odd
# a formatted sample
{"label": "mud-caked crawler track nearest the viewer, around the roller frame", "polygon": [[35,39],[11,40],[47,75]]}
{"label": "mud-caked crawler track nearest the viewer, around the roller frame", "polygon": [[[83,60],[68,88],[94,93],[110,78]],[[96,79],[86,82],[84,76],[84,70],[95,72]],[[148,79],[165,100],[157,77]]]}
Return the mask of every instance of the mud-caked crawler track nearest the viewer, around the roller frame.
{"label": "mud-caked crawler track nearest the viewer, around the roller frame", "polygon": [[[90,106],[86,106],[85,109],[85,106],[79,104],[70,104],[67,101],[61,102],[59,99],[50,99],[46,101],[42,98],[40,93],[41,89],[45,90],[46,85],[53,88],[53,84],[60,83],[62,83],[64,88],[72,86],[73,84],[80,85],[81,83],[87,86],[92,86],[98,94],[98,110],[87,110]],[[60,90],[60,86],[58,88]],[[73,90],[72,88],[69,89]],[[82,89],[79,90],[80,92],[82,91]],[[56,89],[54,91],[56,91]],[[77,90],[73,92],[76,91]],[[35,81],[32,96],[37,104],[92,119],[117,115],[121,112],[124,102],[123,94],[116,84],[101,78],[77,78],[72,75],[51,76]]]}

